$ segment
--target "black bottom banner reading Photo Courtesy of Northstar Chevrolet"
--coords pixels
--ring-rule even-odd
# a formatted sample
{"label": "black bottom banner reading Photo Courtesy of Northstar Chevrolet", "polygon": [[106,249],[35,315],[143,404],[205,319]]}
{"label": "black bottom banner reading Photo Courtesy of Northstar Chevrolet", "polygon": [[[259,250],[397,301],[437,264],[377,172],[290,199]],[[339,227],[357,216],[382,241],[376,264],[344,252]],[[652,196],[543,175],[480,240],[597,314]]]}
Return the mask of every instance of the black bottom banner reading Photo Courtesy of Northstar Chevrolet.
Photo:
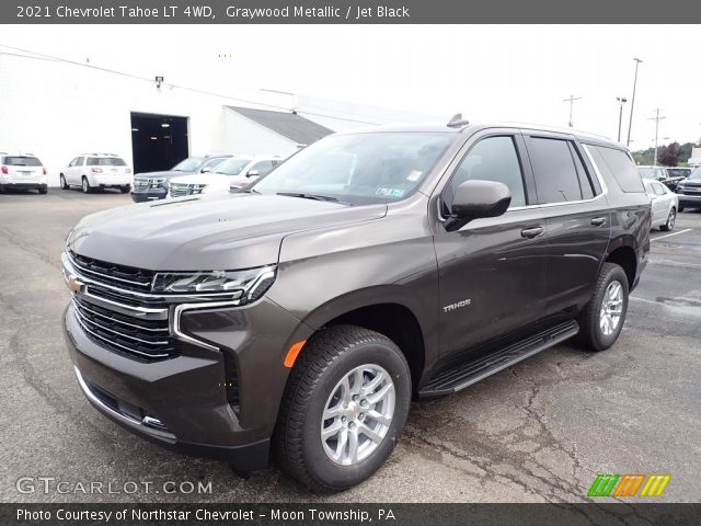
{"label": "black bottom banner reading Photo Courtesy of Northstar Chevrolet", "polygon": [[2,526],[698,525],[701,504],[0,504]]}

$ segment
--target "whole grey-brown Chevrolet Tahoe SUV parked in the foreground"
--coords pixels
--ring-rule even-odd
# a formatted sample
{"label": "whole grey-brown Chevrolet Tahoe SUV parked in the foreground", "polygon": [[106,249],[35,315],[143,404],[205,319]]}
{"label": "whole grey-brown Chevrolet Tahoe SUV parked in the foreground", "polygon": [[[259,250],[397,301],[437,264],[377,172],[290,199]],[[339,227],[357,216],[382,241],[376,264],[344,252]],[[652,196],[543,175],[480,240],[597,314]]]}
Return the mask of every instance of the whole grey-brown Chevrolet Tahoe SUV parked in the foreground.
{"label": "whole grey-brown Chevrolet Tahoe SUV parked in the foreground", "polygon": [[508,126],[315,142],[235,194],[85,217],[65,317],[90,402],[315,490],[371,476],[412,397],[577,336],[611,346],[650,250],[629,152]]}

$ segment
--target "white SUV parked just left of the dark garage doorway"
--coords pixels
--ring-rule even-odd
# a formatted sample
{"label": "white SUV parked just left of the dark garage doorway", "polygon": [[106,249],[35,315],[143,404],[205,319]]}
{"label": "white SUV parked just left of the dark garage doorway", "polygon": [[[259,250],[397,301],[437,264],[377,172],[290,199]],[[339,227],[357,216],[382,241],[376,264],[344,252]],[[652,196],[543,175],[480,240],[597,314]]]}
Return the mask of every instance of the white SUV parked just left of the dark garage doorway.
{"label": "white SUV parked just left of the dark garage doorway", "polygon": [[83,153],[60,173],[61,188],[80,186],[87,194],[95,188],[131,190],[131,169],[115,153]]}

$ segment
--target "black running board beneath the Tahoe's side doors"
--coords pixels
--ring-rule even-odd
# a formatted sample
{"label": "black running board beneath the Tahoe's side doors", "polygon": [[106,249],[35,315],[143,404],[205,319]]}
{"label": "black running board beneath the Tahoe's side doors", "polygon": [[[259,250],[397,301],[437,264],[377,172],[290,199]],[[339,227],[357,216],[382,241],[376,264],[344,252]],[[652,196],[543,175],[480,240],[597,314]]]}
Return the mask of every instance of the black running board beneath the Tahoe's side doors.
{"label": "black running board beneath the Tahoe's side doors", "polygon": [[420,398],[438,397],[464,389],[487,376],[552,347],[579,332],[575,320],[565,321],[494,351],[474,362],[464,362],[432,379],[418,391]]}

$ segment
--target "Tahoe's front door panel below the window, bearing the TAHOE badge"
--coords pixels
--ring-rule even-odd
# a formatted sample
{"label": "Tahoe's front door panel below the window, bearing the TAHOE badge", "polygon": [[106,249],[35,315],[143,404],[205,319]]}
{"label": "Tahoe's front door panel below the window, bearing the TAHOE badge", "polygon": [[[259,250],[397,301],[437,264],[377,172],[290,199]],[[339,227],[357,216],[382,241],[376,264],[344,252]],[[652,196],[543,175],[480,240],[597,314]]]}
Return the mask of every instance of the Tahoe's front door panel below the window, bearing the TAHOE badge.
{"label": "Tahoe's front door panel below the window, bearing the TAHOE badge", "polygon": [[[543,233],[521,233],[538,227]],[[444,356],[541,318],[544,227],[541,210],[529,208],[475,219],[457,232],[435,237]]]}

